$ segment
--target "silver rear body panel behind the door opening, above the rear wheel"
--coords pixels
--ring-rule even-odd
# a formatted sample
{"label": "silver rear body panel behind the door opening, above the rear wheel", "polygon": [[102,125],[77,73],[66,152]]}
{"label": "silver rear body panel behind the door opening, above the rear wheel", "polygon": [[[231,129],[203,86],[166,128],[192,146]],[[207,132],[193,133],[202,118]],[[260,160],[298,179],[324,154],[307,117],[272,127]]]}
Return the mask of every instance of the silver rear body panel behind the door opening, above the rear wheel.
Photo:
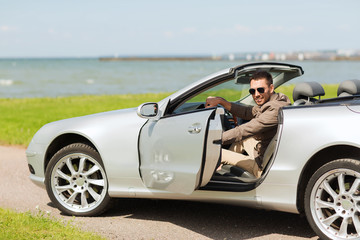
{"label": "silver rear body panel behind the door opening, above the rear wheel", "polygon": [[[334,114],[335,113],[335,114]],[[331,146],[360,148],[359,138],[349,126],[356,126],[360,116],[346,106],[283,108],[283,130],[275,161],[260,189],[264,189],[264,207],[291,205],[297,211],[297,186],[302,170],[316,153]],[[328,129],[321,131],[319,129]],[[304,134],[306,133],[306,134]],[[306,151],[305,151],[306,150]],[[273,194],[278,183],[277,194]],[[281,190],[281,188],[283,189]],[[278,209],[282,210],[282,208]]]}

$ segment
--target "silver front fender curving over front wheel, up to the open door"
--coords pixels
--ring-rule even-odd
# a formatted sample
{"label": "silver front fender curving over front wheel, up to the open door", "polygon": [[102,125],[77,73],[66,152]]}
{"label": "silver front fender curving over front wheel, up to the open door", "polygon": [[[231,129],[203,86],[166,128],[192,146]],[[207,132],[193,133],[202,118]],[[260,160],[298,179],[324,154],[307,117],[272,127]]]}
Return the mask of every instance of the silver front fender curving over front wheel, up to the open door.
{"label": "silver front fender curving over front wheel, up to the open door", "polygon": [[[34,136],[26,154],[35,166],[37,185],[44,186],[44,158],[52,141],[64,134],[77,134],[88,139],[99,151],[108,175],[109,191],[125,178],[139,178],[138,135],[146,122],[136,108],[117,110],[53,122]],[[105,137],[107,136],[107,137]],[[127,159],[124,161],[123,159]]]}

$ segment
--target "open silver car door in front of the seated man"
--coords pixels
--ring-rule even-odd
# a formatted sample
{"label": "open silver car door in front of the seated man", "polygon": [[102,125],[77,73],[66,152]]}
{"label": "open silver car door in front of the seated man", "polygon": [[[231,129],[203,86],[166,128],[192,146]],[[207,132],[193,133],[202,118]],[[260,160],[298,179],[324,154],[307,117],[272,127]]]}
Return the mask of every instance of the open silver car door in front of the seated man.
{"label": "open silver car door in front of the seated man", "polygon": [[140,132],[146,187],[191,194],[211,179],[221,154],[222,108],[149,120]]}

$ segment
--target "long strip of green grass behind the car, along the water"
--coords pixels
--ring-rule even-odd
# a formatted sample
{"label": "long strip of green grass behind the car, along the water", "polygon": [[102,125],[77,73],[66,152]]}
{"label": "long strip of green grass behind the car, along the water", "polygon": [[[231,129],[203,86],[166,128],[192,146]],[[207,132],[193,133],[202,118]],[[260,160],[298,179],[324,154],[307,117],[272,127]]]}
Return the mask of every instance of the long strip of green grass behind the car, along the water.
{"label": "long strip of green grass behind the car, along the water", "polygon": [[[336,97],[337,85],[324,85],[325,98]],[[294,85],[278,88],[287,96],[292,96]],[[207,95],[222,96],[235,101],[240,94],[234,90],[206,92]],[[158,102],[170,93],[127,94],[110,96],[77,96],[61,98],[0,99],[0,144],[26,147],[33,135],[43,125],[60,119],[83,116],[92,113],[122,108],[137,107],[144,102]]]}

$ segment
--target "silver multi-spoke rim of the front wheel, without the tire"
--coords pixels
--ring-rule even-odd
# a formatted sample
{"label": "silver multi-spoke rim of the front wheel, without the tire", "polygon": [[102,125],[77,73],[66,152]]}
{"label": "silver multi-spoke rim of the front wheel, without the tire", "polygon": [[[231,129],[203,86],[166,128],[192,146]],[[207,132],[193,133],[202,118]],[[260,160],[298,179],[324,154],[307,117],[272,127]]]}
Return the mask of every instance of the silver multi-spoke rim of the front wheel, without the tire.
{"label": "silver multi-spoke rim of the front wheel, without the tire", "polygon": [[54,166],[51,189],[66,209],[89,212],[99,206],[106,196],[106,174],[102,166],[89,155],[69,154]]}

